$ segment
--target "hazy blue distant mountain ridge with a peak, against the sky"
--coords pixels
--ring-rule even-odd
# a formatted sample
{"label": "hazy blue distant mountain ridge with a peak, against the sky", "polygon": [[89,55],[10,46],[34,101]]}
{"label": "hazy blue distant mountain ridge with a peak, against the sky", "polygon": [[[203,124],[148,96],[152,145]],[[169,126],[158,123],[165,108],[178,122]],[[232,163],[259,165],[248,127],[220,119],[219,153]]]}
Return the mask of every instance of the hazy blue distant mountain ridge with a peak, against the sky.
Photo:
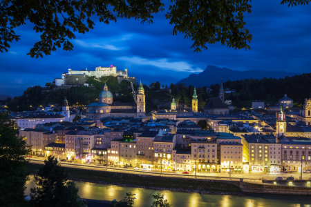
{"label": "hazy blue distant mountain ridge with a peak, against the sky", "polygon": [[266,78],[285,78],[286,76],[292,77],[294,75],[301,75],[300,73],[286,72],[286,71],[262,71],[262,70],[231,70],[228,68],[218,68],[217,66],[207,66],[207,68],[199,74],[191,74],[189,77],[178,81],[178,83],[184,83],[187,86],[196,86],[201,88],[204,86],[211,86],[219,83],[223,79],[225,81],[237,81],[242,79],[263,79]]}

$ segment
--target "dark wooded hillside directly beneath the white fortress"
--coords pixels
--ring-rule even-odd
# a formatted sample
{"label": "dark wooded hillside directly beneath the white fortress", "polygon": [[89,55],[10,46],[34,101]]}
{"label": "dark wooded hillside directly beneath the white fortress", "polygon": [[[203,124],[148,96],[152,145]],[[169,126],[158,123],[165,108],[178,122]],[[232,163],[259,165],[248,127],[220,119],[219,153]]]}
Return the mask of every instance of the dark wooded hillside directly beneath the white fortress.
{"label": "dark wooded hillside directly beneath the white fortress", "polygon": [[[134,102],[129,81],[122,81],[119,84],[116,77],[102,77],[99,80],[89,77],[88,83],[95,89],[86,86],[55,89],[55,86],[47,83],[46,88],[41,86],[27,88],[23,95],[14,97],[14,99],[8,98],[6,104],[12,111],[36,110],[37,107],[48,106],[48,104],[62,106],[64,97],[66,97],[70,106],[73,104],[85,106],[98,101],[98,95],[103,90],[105,82],[113,94],[113,101]],[[118,92],[119,96],[115,96],[115,92]]]}

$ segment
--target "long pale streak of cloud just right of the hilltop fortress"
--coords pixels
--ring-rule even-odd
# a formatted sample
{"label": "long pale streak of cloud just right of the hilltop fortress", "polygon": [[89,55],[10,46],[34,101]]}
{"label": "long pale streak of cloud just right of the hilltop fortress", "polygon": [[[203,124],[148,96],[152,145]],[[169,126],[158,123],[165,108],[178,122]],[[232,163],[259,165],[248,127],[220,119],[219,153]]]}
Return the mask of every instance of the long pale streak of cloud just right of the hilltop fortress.
{"label": "long pale streak of cloud just right of the hilltop fortress", "polygon": [[118,57],[117,60],[127,61],[140,66],[155,66],[162,70],[174,70],[179,72],[202,72],[201,68],[193,68],[193,65],[185,61],[171,61],[168,59],[149,60],[141,57]]}

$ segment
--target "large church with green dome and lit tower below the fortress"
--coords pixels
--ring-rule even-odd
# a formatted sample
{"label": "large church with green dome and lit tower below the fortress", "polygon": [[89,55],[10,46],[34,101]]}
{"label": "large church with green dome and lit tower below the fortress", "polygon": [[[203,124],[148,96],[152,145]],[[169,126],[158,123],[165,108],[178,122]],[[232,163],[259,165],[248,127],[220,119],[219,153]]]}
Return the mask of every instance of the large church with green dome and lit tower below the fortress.
{"label": "large church with green dome and lit tower below the fortress", "polygon": [[113,101],[113,95],[108,90],[106,83],[98,99],[98,103],[91,103],[86,106],[86,118],[97,121],[104,117],[145,117],[146,103],[141,81],[138,87],[137,103]]}

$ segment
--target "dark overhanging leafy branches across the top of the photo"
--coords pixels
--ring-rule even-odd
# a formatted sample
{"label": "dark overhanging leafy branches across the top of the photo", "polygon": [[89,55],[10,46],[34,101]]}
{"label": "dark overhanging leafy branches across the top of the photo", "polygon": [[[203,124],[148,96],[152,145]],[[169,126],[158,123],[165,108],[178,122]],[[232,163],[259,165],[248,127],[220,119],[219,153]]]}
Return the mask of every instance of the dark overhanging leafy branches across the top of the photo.
{"label": "dark overhanging leafy branches across the top of the photo", "polygon": [[[185,34],[194,42],[194,52],[207,49],[207,43],[221,43],[236,49],[249,49],[252,34],[245,28],[243,14],[250,13],[252,0],[171,0],[165,17],[173,25],[173,35]],[[281,4],[297,6],[310,0],[283,0]],[[18,41],[15,29],[26,23],[34,25],[41,40],[34,44],[27,55],[43,57],[57,48],[73,50],[75,33],[84,34],[94,28],[94,16],[109,24],[118,18],[137,19],[141,23],[153,23],[153,14],[164,11],[161,0],[3,0],[0,8],[0,51],[8,52],[10,42]]]}

